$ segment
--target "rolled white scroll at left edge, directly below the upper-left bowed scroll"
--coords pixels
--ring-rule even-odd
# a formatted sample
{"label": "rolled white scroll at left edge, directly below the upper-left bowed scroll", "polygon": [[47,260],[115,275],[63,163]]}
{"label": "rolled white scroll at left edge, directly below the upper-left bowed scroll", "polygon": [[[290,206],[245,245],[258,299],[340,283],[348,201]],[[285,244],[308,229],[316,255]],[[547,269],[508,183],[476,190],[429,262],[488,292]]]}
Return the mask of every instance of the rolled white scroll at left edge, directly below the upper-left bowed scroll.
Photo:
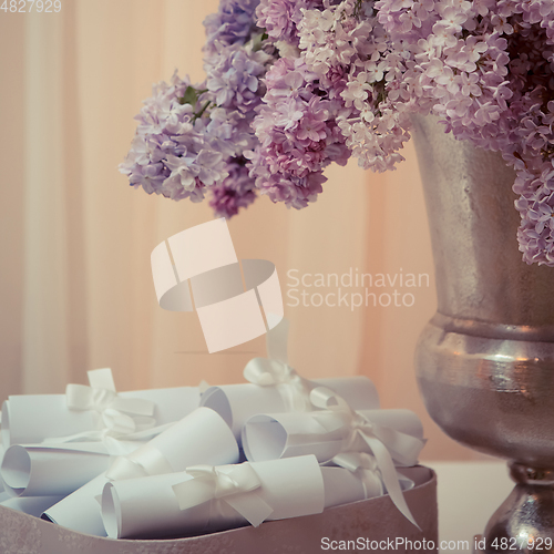
{"label": "rolled white scroll at left edge, directly below the upper-left bowed scroll", "polygon": [[[140,445],[116,441],[119,454],[131,453]],[[11,496],[63,497],[103,473],[114,452],[109,452],[103,442],[14,444],[3,456],[0,476]]]}

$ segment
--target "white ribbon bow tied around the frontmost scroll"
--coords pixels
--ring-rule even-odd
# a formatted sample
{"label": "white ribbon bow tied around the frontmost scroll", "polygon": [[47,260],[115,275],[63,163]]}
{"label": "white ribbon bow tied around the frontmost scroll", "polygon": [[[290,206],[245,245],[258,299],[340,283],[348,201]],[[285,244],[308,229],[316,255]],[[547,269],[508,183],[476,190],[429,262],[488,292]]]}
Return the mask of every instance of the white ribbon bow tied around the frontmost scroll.
{"label": "white ribbon bow tied around the frontmost scroll", "polygon": [[261,482],[248,462],[220,468],[193,465],[186,472],[193,479],[173,485],[181,510],[220,500],[255,527],[273,513],[273,507],[254,492]]}

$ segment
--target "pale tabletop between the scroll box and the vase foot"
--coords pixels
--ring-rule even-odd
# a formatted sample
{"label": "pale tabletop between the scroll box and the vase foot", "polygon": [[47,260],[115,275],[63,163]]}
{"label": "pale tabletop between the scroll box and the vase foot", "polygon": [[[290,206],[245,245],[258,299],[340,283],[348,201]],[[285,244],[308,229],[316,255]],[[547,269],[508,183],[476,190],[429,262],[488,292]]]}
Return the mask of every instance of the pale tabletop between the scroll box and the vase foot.
{"label": "pale tabletop between the scroll box and the vase foot", "polygon": [[[514,488],[506,463],[502,461],[422,463],[432,468],[438,475],[439,541],[443,543],[441,554],[454,552],[471,554],[473,536],[483,533],[491,515]],[[469,541],[469,548],[463,541]]]}

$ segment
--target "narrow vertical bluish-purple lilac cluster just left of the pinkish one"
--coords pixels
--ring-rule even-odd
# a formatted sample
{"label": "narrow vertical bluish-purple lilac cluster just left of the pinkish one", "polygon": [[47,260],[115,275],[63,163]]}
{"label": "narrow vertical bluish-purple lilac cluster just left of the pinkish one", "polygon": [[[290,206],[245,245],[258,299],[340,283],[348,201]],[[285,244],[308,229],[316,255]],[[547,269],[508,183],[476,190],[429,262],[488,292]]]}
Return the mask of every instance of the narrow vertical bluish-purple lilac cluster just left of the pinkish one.
{"label": "narrow vertical bluish-purple lilac cluster just left of the pinkish one", "polygon": [[209,16],[204,47],[207,89],[214,102],[208,133],[225,154],[228,176],[211,187],[209,205],[217,216],[232,217],[256,199],[255,178],[246,170],[245,151],[257,146],[252,130],[265,88],[261,76],[274,62],[274,48],[261,48],[264,32],[256,25],[258,0],[222,0]]}

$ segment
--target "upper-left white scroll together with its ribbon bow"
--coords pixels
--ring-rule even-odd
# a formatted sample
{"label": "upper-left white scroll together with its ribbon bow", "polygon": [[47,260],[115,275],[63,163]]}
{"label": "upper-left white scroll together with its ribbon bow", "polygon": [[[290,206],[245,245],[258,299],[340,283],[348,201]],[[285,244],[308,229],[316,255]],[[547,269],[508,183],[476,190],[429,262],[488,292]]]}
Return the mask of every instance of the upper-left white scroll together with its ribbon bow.
{"label": "upper-left white scroll together with its ribbon bow", "polygon": [[131,439],[135,431],[178,421],[199,404],[196,387],[116,393],[110,370],[89,371],[91,379],[90,387],[69,384],[65,394],[9,397],[2,404],[3,445],[72,435],[76,441],[101,440],[105,434]]}

